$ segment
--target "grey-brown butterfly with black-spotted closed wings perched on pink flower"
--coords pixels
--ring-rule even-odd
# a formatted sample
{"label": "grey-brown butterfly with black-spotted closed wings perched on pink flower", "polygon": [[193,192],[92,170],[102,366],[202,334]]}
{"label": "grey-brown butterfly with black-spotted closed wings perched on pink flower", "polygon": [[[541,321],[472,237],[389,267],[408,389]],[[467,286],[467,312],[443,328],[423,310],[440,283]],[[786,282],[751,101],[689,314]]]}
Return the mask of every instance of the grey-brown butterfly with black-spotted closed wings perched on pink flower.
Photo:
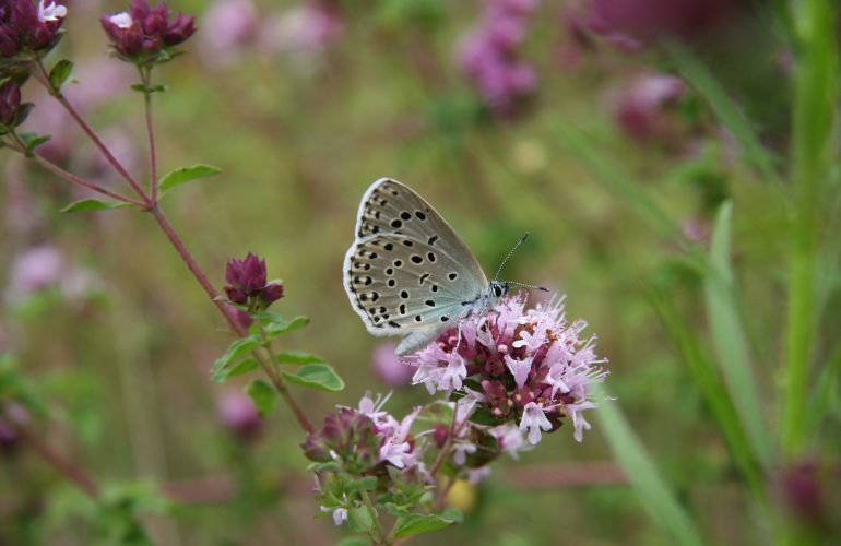
{"label": "grey-brown butterfly with black-spotted closed wings perched on pink flower", "polygon": [[507,282],[487,280],[433,205],[391,178],[380,178],[363,195],[343,280],[368,332],[403,335],[399,356],[485,312],[509,289]]}

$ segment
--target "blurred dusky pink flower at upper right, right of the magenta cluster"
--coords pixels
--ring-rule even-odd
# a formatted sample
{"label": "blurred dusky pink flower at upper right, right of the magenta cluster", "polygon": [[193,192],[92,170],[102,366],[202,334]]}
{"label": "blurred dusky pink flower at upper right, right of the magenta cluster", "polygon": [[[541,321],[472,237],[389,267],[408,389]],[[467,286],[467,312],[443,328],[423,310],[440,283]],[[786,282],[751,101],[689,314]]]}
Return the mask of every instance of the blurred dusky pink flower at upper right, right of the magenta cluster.
{"label": "blurred dusky pink flower at upper right, right of the magenta cluster", "polygon": [[632,139],[670,140],[680,132],[680,126],[668,110],[685,93],[686,86],[677,76],[644,74],[614,98],[614,117]]}

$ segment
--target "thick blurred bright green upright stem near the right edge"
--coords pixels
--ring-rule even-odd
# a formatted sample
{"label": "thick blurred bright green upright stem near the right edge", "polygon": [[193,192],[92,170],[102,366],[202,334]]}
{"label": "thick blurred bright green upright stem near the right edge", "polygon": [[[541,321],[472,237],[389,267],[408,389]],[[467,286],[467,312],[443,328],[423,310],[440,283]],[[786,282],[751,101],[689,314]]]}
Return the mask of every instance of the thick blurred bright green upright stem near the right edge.
{"label": "thick blurred bright green upright stem near the right edge", "polygon": [[828,0],[798,2],[794,29],[798,59],[794,81],[792,181],[795,215],[790,249],[789,314],[783,382],[782,449],[787,461],[805,449],[805,412],[815,337],[815,270],[824,179],[832,159],[838,45],[836,9]]}

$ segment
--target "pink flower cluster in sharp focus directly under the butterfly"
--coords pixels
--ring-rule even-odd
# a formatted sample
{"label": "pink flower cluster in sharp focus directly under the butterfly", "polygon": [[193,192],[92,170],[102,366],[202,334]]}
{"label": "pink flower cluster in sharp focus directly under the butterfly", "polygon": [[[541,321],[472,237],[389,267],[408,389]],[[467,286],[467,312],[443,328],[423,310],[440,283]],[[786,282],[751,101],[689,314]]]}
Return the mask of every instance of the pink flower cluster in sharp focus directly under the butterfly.
{"label": "pink flower cluster in sharp focus directly under the butterfly", "polygon": [[413,382],[430,394],[459,391],[475,400],[474,422],[516,423],[535,444],[568,417],[581,441],[590,428],[583,412],[595,407],[592,387],[608,373],[599,366],[606,360],[595,355],[595,336],[581,336],[585,327],[567,322],[562,301],[525,310],[523,297],[511,297],[406,360],[417,367]]}

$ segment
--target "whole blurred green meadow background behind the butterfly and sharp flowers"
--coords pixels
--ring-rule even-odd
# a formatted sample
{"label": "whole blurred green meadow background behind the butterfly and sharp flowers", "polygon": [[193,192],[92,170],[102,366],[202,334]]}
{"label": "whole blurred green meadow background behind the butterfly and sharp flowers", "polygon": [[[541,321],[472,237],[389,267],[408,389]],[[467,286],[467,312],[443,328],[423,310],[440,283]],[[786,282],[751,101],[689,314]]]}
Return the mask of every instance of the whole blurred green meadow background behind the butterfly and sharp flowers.
{"label": "whole blurred green meadow background behind the butterfly and sharp flowers", "polygon": [[[381,176],[435,204],[486,272],[530,230],[505,277],[566,294],[599,332],[605,423],[500,462],[453,501],[461,524],[413,543],[766,544],[789,536],[783,521],[793,541],[839,541],[838,90],[820,78],[837,44],[819,17],[736,0],[173,1],[199,29],[156,68],[166,92],[137,93],[99,25],[127,7],[68,4],[50,59],[74,63],[57,81],[133,173],[144,94],[161,173],[222,170],[162,206],[216,286],[248,251],[282,278],[273,310],[310,323],[277,351],[346,383],[291,387],[315,422],[370,390],[393,389],[395,414],[429,401],[375,353],[342,287],[358,200]],[[117,188],[60,106],[34,82],[23,93],[36,106],[20,129],[51,135],[37,151]],[[235,370],[254,363],[218,364],[227,327],[151,218],[83,212],[104,207],[7,152],[0,400],[21,405],[0,417],[109,487],[93,506],[0,420],[0,543],[336,543],[344,529],[312,518],[299,427],[280,403],[259,417],[276,403],[265,383],[247,388],[262,407],[241,396]],[[799,194],[804,179],[818,193]],[[798,214],[814,224],[792,228]],[[819,235],[805,329],[787,322],[798,230]],[[793,343],[812,363],[803,418],[782,411]],[[550,465],[612,446],[636,489],[553,486]]]}

